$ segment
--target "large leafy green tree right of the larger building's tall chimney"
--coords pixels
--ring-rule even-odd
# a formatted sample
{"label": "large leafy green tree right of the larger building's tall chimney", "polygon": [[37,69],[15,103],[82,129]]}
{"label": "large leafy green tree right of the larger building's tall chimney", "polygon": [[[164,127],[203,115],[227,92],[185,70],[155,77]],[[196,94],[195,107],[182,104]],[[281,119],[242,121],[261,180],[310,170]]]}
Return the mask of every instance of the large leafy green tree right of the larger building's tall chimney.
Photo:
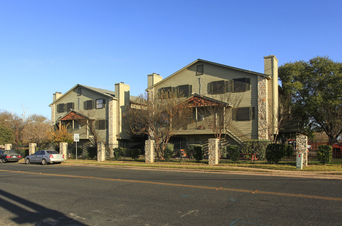
{"label": "large leafy green tree right of the larger building's tall chimney", "polygon": [[[317,56],[279,66],[279,79],[292,97],[292,115],[330,140],[342,133],[342,63]],[[310,133],[310,131],[307,131]]]}

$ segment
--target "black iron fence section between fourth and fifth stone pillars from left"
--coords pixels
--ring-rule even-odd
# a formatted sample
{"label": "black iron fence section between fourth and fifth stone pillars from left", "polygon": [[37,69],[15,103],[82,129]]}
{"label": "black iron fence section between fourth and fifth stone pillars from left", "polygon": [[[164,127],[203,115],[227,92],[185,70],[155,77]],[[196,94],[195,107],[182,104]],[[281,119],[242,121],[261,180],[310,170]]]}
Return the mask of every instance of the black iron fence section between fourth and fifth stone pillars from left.
{"label": "black iron fence section between fourth and fifth stone pillars from left", "polygon": [[105,160],[145,162],[145,142],[122,142],[105,147]]}

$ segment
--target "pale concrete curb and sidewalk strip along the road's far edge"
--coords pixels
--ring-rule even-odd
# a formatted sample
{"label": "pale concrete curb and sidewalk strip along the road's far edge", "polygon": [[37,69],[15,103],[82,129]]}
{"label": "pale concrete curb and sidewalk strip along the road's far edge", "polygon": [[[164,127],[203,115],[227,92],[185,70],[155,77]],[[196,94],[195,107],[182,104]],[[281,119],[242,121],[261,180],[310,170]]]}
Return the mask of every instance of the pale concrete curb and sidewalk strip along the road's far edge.
{"label": "pale concrete curb and sidewalk strip along the road's far edge", "polygon": [[[225,171],[225,170],[194,170],[194,169],[177,169],[177,168],[158,168],[158,167],[139,167],[139,166],[120,166],[120,165],[95,165],[95,164],[79,164],[79,163],[63,163],[63,165],[74,166],[90,166],[90,167],[111,167],[122,169],[135,170],[159,170],[159,171],[177,171],[177,172],[197,172],[197,173],[220,173],[220,174],[240,174],[240,175],[256,175],[256,176],[278,176],[278,177],[302,177],[302,178],[316,178],[316,179],[342,179],[342,175],[331,175],[329,171],[310,172],[310,171],[285,171],[285,170],[270,170],[260,168],[250,168],[253,171]],[[234,167],[246,170],[246,167]],[[255,172],[259,171],[259,172]]]}

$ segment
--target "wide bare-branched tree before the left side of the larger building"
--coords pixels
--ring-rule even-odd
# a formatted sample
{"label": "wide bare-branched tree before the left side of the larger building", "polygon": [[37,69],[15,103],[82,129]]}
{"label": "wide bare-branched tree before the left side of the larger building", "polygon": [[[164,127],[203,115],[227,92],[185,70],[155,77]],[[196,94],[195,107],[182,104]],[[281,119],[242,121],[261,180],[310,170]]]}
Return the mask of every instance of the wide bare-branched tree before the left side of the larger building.
{"label": "wide bare-branched tree before the left side of the larger building", "polygon": [[131,135],[147,134],[156,141],[157,156],[163,159],[166,144],[180,126],[188,122],[192,108],[187,106],[181,94],[171,91],[141,94],[136,103],[127,106],[123,123]]}

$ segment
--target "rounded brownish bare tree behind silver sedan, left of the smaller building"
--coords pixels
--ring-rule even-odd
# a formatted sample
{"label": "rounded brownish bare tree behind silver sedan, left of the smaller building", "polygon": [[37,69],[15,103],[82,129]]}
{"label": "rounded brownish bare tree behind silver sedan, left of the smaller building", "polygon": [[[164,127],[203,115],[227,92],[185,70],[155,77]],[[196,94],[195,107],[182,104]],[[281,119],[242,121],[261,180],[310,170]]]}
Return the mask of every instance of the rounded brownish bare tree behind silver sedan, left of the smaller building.
{"label": "rounded brownish bare tree behind silver sedan, left of the smaller building", "polygon": [[51,122],[47,117],[33,114],[26,121],[21,137],[23,143],[34,142],[40,145],[48,141],[48,131],[51,129]]}

